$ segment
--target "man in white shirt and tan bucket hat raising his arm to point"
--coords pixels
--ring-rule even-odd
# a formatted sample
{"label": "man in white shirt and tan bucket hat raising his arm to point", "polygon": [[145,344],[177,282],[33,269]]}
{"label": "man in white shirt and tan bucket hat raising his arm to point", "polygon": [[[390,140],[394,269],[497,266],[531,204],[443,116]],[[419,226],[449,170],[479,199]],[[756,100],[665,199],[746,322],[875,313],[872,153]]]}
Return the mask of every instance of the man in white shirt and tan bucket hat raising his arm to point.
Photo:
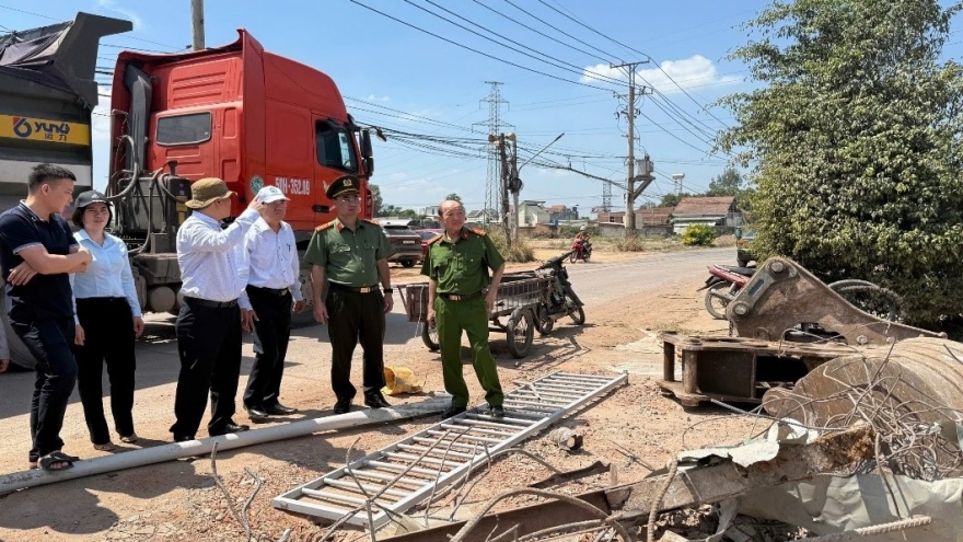
{"label": "man in white shirt and tan bucket hat raising his arm to point", "polygon": [[234,396],[241,376],[241,309],[237,298],[247,286],[244,235],[264,207],[252,198],[247,209],[225,229],[231,196],[220,178],[201,178],[190,186],[187,207],[194,212],[177,230],[177,264],[184,303],[177,316],[181,374],[171,426],[175,441],[194,440],[207,394],[211,397],[211,436],[246,431],[235,424]]}

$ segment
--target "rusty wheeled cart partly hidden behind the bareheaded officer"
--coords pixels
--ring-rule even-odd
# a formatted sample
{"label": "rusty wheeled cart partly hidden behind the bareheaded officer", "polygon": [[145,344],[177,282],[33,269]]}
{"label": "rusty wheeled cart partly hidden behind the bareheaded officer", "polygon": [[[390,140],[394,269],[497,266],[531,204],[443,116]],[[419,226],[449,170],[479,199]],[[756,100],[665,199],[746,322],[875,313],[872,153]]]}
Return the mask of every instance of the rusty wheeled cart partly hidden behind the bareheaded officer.
{"label": "rusty wheeled cart partly hidden behind the bareheaded officer", "polygon": [[[550,288],[549,279],[534,273],[510,273],[498,285],[495,309],[489,316],[491,331],[506,333],[508,349],[515,358],[529,355],[535,334],[535,314]],[[438,350],[438,330],[428,324],[428,285],[399,286],[408,322],[421,324],[421,341],[430,350]],[[508,320],[502,323],[503,318]]]}

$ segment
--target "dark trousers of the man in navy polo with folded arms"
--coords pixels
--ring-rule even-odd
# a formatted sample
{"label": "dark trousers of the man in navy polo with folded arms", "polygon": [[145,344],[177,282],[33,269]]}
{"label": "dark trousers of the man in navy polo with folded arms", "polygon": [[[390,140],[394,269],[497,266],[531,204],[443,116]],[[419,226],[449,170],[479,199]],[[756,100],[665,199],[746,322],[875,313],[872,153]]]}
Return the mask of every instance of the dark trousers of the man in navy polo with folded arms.
{"label": "dark trousers of the man in navy polo with folded arms", "polygon": [[28,459],[39,458],[63,448],[60,429],[73,385],[77,361],[73,344],[73,318],[44,319],[32,322],[10,321],[13,332],[37,360],[34,394],[31,399],[31,448]]}

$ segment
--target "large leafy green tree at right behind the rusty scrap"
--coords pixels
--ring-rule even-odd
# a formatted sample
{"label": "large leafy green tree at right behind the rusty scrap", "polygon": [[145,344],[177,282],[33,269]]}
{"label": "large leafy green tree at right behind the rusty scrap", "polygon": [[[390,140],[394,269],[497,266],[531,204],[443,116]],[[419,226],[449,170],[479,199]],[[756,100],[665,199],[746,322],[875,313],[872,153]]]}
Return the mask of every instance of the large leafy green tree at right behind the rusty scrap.
{"label": "large leafy green tree at right behind the rusty scrap", "polygon": [[757,90],[722,103],[719,146],[752,166],[756,246],[861,278],[931,324],[963,297],[963,71],[937,0],[777,1],[732,58]]}

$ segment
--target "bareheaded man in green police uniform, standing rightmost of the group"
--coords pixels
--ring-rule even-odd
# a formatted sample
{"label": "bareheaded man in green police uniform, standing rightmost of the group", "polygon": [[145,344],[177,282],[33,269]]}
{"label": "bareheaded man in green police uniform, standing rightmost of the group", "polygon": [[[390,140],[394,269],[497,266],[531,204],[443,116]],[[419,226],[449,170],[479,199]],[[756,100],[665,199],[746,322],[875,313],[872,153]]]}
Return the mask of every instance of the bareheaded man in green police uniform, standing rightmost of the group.
{"label": "bareheaded man in green police uniform, standing rightmost of the group", "polygon": [[[431,240],[421,274],[429,278],[428,322],[438,326],[444,389],[452,394],[451,406],[441,416],[450,418],[468,406],[468,387],[461,360],[464,330],[489,414],[504,417],[504,394],[488,348],[488,314],[495,307],[504,260],[484,231],[464,227],[465,208],[460,201],[442,201],[438,214],[444,233]],[[489,269],[492,270],[490,280]]]}

